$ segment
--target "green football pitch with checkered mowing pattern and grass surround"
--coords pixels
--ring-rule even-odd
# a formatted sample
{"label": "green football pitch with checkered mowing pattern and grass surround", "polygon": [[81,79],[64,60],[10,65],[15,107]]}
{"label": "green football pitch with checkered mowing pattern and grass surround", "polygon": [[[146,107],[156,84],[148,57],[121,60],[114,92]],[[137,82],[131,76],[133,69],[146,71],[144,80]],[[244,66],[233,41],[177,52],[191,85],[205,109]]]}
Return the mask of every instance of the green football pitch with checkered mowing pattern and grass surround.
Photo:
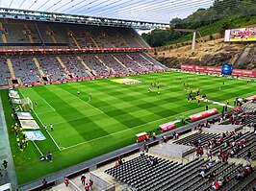
{"label": "green football pitch with checkered mowing pattern and grass surround", "polygon": [[[36,145],[30,142],[23,153],[10,128],[14,121],[7,90],[1,91],[19,184],[135,143],[136,133],[160,133],[159,125],[188,117],[204,110],[206,105],[221,111],[218,105],[187,102],[184,84],[189,84],[191,90],[198,87],[210,100],[223,104],[229,100],[231,106],[238,96],[256,94],[256,84],[252,81],[247,84],[242,80],[188,73],[151,73],[123,78],[142,83],[117,84],[105,79],[20,88],[22,97],[37,102],[32,113],[46,136],[44,141],[35,141]],[[151,86],[158,82],[159,89]],[[148,88],[152,91],[148,92]],[[42,124],[48,127],[49,133],[43,130]],[[49,130],[50,124],[54,131]],[[53,154],[53,162],[39,161],[40,153],[46,155],[48,150]]]}

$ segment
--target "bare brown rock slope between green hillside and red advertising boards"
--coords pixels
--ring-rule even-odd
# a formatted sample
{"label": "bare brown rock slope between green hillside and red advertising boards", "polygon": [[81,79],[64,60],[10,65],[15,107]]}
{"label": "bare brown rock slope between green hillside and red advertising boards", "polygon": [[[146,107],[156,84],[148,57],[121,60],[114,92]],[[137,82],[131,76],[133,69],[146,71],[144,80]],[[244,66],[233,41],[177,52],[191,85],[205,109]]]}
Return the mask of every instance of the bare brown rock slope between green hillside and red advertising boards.
{"label": "bare brown rock slope between green hillside and red advertising boards", "polygon": [[220,66],[232,63],[234,68],[256,69],[256,43],[226,43],[222,39],[198,44],[192,51],[190,46],[178,49],[152,52],[151,55],[169,67],[179,68],[181,64]]}

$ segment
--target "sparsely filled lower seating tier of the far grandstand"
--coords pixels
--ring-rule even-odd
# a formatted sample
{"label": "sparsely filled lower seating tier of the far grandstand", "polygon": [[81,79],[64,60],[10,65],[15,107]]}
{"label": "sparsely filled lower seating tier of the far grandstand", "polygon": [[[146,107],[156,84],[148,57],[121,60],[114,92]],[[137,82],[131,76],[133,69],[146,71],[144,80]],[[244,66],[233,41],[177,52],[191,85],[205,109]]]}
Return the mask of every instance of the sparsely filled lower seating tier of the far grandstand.
{"label": "sparsely filled lower seating tier of the far grandstand", "polygon": [[[109,75],[140,74],[148,71],[157,71],[155,67],[144,64],[142,53],[115,53],[115,54],[88,54],[81,55],[81,59],[87,64],[87,68],[81,60],[74,55],[62,55],[59,58],[64,66],[57,60],[56,56],[35,57],[39,67],[49,81],[64,81],[70,78],[81,79],[83,77],[107,77]],[[146,55],[143,54],[145,57]],[[79,56],[79,55],[78,55]],[[132,59],[132,57],[138,60]],[[20,78],[24,84],[39,82],[40,73],[33,60],[34,57],[11,58],[13,71],[16,78]],[[119,62],[118,62],[119,60]],[[6,85],[11,74],[6,60],[1,67],[0,85]],[[154,64],[158,64],[156,61]]]}

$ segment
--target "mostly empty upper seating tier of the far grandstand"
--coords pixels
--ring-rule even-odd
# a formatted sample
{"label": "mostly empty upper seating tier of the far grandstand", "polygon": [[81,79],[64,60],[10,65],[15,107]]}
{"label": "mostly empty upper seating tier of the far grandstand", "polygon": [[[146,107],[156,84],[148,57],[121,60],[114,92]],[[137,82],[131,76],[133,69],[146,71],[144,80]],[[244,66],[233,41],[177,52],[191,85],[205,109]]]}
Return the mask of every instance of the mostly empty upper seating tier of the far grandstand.
{"label": "mostly empty upper seating tier of the far grandstand", "polygon": [[[149,47],[131,28],[97,27],[63,23],[30,22],[9,19],[3,22],[9,43],[63,43],[70,48],[141,48]],[[47,30],[45,30],[47,29]],[[68,36],[67,36],[68,34]],[[55,41],[53,40],[53,37]],[[76,41],[73,40],[73,37]],[[77,44],[78,43],[78,44]],[[60,44],[59,44],[60,45]]]}

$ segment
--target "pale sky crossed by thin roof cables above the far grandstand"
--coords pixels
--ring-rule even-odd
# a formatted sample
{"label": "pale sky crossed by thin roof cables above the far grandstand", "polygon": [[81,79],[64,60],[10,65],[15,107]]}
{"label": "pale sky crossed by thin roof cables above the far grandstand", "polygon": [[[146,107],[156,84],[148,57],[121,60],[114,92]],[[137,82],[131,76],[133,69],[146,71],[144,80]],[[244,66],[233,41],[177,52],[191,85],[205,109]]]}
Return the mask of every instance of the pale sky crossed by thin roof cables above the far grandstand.
{"label": "pale sky crossed by thin roof cables above the far grandstand", "polygon": [[169,23],[211,5],[213,0],[0,0],[0,8],[155,23]]}

